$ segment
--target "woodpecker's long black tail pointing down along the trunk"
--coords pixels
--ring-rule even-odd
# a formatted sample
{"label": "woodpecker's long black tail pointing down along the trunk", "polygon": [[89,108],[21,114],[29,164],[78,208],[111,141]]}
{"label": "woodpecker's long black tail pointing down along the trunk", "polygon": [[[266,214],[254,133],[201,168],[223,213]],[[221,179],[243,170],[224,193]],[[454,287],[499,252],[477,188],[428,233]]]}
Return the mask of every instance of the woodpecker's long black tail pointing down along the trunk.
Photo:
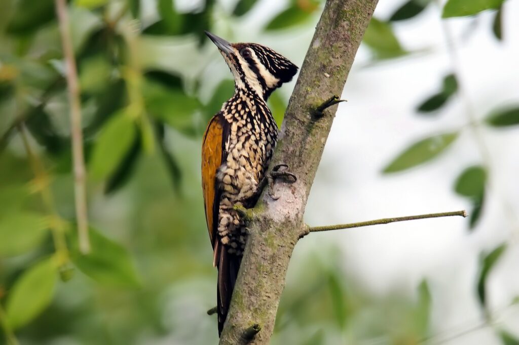
{"label": "woodpecker's long black tail pointing down along the trunk", "polygon": [[[218,336],[222,334],[224,322],[229,311],[230,299],[233,295],[238,269],[241,264],[241,256],[230,254],[225,246],[217,246],[215,259],[218,267],[218,283],[216,289],[217,312],[218,312]],[[216,261],[216,260],[215,260]]]}

